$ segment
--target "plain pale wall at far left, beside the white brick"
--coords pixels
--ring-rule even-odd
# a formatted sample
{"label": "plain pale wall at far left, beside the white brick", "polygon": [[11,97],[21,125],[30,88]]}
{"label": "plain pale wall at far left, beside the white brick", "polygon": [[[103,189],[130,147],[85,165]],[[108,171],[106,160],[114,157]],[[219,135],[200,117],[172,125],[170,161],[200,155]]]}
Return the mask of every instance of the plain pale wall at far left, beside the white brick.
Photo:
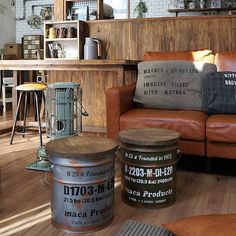
{"label": "plain pale wall at far left, beside the white brick", "polygon": [[0,53],[5,43],[15,43],[15,8],[9,0],[0,0]]}

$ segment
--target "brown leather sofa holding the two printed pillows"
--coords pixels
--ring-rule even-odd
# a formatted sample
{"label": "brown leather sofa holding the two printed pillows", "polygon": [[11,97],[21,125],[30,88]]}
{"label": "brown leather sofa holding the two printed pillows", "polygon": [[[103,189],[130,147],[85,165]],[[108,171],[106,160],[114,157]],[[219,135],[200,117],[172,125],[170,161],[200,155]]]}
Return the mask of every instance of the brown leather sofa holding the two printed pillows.
{"label": "brown leather sofa holding the two printed pillows", "polygon": [[[190,60],[215,63],[218,71],[236,71],[236,51],[209,50],[184,52],[147,52],[145,60]],[[162,127],[180,133],[183,154],[236,158],[236,115],[208,116],[201,111],[161,110],[135,107],[135,84],[109,88],[106,93],[107,136],[117,139],[127,128]]]}

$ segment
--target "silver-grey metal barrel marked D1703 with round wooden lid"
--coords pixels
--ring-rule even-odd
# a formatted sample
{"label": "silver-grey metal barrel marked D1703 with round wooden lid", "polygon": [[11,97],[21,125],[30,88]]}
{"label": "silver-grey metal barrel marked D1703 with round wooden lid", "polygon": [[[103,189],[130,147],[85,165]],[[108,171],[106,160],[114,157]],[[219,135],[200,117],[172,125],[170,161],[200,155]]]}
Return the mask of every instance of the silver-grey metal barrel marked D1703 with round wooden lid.
{"label": "silver-grey metal barrel marked D1703 with round wooden lid", "polygon": [[114,141],[95,136],[72,136],[46,144],[54,226],[88,233],[111,223],[116,150]]}

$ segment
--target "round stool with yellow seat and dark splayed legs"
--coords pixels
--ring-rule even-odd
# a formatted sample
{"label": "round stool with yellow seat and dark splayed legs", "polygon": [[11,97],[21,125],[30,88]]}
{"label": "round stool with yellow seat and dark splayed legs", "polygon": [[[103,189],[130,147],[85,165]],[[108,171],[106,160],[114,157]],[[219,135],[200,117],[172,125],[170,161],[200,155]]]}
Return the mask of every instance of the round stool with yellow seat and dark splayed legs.
{"label": "round stool with yellow seat and dark splayed legs", "polygon": [[19,116],[20,105],[21,105],[21,101],[22,101],[23,96],[25,98],[24,114],[23,114],[24,120],[23,120],[22,132],[19,132],[19,134],[22,134],[23,136],[26,134],[25,128],[26,128],[26,117],[27,117],[27,97],[28,97],[28,93],[32,92],[34,95],[34,99],[35,99],[36,118],[38,121],[40,146],[43,145],[38,94],[41,93],[42,99],[45,99],[44,94],[43,94],[43,90],[45,90],[46,87],[47,87],[46,84],[43,84],[43,83],[26,83],[26,84],[21,84],[16,87],[16,90],[20,92],[20,95],[19,95],[19,101],[17,103],[16,114],[15,114],[15,118],[14,118],[12,132],[11,132],[10,144],[12,144],[12,142],[13,142],[13,138],[14,138],[14,134],[15,134],[15,130],[16,130],[16,124],[17,124],[18,116]]}

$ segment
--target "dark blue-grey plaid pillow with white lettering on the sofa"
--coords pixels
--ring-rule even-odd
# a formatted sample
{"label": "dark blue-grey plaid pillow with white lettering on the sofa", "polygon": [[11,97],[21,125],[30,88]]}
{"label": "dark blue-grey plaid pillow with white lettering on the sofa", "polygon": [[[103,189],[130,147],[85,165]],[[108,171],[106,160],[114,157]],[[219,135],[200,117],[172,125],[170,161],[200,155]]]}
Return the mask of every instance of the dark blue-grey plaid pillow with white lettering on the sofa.
{"label": "dark blue-grey plaid pillow with white lettering on the sofa", "polygon": [[236,114],[236,72],[215,72],[202,81],[202,108],[207,114]]}

